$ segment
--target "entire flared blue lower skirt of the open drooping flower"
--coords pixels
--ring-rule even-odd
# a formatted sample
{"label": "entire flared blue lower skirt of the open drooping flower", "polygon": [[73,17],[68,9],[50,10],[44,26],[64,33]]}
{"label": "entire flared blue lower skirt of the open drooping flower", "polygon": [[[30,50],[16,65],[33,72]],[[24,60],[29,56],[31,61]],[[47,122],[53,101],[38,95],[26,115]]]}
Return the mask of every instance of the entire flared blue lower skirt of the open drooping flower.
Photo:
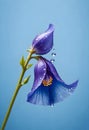
{"label": "entire flared blue lower skirt of the open drooping flower", "polygon": [[[75,84],[71,84],[71,88],[74,90]],[[67,96],[72,93],[69,88],[65,87],[61,82],[53,78],[51,86],[45,87],[42,84],[34,91],[30,92],[27,97],[27,101],[37,105],[54,105],[60,101],[63,101]]]}

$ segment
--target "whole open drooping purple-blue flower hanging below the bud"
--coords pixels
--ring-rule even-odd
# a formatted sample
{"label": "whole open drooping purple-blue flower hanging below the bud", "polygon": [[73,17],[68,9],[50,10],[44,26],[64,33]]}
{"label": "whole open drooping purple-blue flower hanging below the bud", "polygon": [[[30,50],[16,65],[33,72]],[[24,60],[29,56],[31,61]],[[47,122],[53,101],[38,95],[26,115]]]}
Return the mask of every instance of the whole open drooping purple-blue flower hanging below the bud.
{"label": "whole open drooping purple-blue flower hanging below the bud", "polygon": [[34,83],[27,101],[33,104],[54,105],[70,95],[78,80],[67,85],[58,75],[54,65],[40,57],[34,68]]}

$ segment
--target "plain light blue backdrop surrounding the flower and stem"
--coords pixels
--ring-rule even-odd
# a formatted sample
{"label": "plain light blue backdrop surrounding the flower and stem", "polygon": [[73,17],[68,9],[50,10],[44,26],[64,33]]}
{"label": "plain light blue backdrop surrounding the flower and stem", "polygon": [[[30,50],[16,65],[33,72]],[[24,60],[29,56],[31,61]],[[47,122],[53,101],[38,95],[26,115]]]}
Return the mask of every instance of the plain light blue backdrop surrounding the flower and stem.
{"label": "plain light blue backdrop surrounding the flower and stem", "polygon": [[[89,130],[89,1],[0,0],[0,125],[33,38],[55,26],[55,66],[66,83],[79,79],[76,91],[54,107],[26,102],[32,75],[16,98],[5,130]],[[51,51],[45,55],[51,59]],[[35,64],[36,61],[31,63]]]}

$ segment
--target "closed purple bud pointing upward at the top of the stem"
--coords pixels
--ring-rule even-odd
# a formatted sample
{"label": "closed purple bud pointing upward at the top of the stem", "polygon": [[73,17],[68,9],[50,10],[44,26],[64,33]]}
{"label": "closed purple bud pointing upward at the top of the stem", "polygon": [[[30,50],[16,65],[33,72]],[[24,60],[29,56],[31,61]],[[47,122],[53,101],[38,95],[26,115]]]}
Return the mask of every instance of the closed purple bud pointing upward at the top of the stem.
{"label": "closed purple bud pointing upward at the top of the stem", "polygon": [[53,47],[53,32],[54,26],[49,25],[49,28],[42,34],[35,37],[32,43],[32,50],[39,55],[48,53]]}

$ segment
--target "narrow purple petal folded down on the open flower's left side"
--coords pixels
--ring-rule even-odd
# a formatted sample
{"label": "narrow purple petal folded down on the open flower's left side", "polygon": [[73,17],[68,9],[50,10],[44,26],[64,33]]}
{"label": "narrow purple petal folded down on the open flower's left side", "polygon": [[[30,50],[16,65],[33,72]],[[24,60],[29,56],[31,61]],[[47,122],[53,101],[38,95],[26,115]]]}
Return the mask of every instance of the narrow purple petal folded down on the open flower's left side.
{"label": "narrow purple petal folded down on the open flower's left side", "polygon": [[44,60],[38,60],[38,63],[36,64],[34,68],[34,83],[32,90],[36,89],[40,84],[42,83],[42,80],[44,79],[46,74],[46,64]]}

